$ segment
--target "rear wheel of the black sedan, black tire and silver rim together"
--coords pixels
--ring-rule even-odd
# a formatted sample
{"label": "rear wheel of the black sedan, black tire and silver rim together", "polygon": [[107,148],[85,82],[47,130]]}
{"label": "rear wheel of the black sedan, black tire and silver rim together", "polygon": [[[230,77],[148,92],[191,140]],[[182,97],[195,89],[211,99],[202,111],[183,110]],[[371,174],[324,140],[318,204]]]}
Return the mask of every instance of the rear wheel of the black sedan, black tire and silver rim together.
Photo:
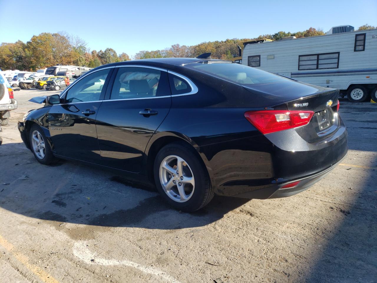
{"label": "rear wheel of the black sedan, black tire and silver rim together", "polygon": [[[196,155],[195,150],[189,145],[170,143],[160,149],[154,162],[156,188],[169,205],[180,211],[192,212],[201,209],[211,201],[214,195],[207,168]],[[179,164],[182,166],[183,175],[182,172],[173,173],[173,171],[177,172],[178,158],[180,158]],[[163,163],[169,165],[165,167],[170,169],[166,170],[162,166]],[[165,188],[169,186],[169,183],[171,189],[166,191]],[[183,198],[179,194],[178,186],[184,194]]]}

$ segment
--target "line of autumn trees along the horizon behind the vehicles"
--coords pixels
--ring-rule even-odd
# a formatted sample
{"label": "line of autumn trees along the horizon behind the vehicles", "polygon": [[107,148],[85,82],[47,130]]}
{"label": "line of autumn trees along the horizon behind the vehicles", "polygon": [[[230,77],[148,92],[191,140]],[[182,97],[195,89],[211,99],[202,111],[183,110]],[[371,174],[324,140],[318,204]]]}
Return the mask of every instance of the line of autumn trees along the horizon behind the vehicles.
{"label": "line of autumn trees along the horizon behind the vehicles", "polygon": [[[368,24],[360,26],[358,30],[374,29]],[[202,42],[197,45],[186,46],[175,44],[170,48],[139,51],[133,59],[162,58],[162,57],[196,57],[205,52],[211,52],[212,58],[229,60],[238,54],[237,45],[244,48],[244,42],[267,38],[279,40],[287,36],[310,37],[324,35],[322,29],[309,28],[305,31],[263,34],[257,38],[233,38],[222,41]],[[43,32],[34,35],[28,42],[18,40],[15,43],[1,43],[0,69],[35,71],[57,64],[87,66],[95,68],[104,64],[130,60],[129,55],[118,55],[114,49],[106,48],[100,51],[90,51],[87,43],[80,37],[66,32]]]}

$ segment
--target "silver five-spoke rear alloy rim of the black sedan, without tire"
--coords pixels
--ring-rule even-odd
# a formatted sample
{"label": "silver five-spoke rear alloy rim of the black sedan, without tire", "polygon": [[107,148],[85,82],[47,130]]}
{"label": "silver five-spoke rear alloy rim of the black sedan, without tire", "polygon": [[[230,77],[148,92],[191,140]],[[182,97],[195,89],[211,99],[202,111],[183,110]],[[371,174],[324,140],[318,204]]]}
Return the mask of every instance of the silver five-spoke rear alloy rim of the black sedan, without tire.
{"label": "silver five-spoke rear alloy rim of the black sedan, without tire", "polygon": [[195,189],[195,178],[189,164],[177,155],[162,160],[159,177],[164,192],[176,202],[188,201]]}

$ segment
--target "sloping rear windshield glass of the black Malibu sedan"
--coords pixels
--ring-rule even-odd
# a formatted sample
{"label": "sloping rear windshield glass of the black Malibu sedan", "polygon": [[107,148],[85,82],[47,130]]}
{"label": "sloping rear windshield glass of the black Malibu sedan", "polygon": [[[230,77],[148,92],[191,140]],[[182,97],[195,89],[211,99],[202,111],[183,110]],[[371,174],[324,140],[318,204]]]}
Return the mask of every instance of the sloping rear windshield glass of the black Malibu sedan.
{"label": "sloping rear windshield glass of the black Malibu sedan", "polygon": [[279,75],[237,63],[204,62],[187,64],[185,66],[240,84],[276,83],[287,81],[286,78],[280,77]]}

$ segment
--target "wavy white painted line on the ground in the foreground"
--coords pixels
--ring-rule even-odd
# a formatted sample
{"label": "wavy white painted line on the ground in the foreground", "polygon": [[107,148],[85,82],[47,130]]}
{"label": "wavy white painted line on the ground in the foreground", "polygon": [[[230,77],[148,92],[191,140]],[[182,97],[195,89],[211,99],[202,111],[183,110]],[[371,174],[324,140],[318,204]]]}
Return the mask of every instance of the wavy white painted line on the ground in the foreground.
{"label": "wavy white painted line on the ground in the foreground", "polygon": [[[158,277],[162,277],[166,280],[167,283],[180,283],[172,276],[166,274],[163,271],[159,271],[158,269],[151,268],[149,266],[140,265],[136,262],[129,261],[129,260],[107,260],[105,258],[99,258],[96,254],[89,251],[86,246],[86,241],[78,241],[75,243],[73,247],[73,253],[76,257],[80,258],[80,260],[84,261],[87,264],[92,265],[125,265],[130,266],[136,269],[139,269],[145,273],[149,273]],[[94,261],[92,261],[94,260]]]}

